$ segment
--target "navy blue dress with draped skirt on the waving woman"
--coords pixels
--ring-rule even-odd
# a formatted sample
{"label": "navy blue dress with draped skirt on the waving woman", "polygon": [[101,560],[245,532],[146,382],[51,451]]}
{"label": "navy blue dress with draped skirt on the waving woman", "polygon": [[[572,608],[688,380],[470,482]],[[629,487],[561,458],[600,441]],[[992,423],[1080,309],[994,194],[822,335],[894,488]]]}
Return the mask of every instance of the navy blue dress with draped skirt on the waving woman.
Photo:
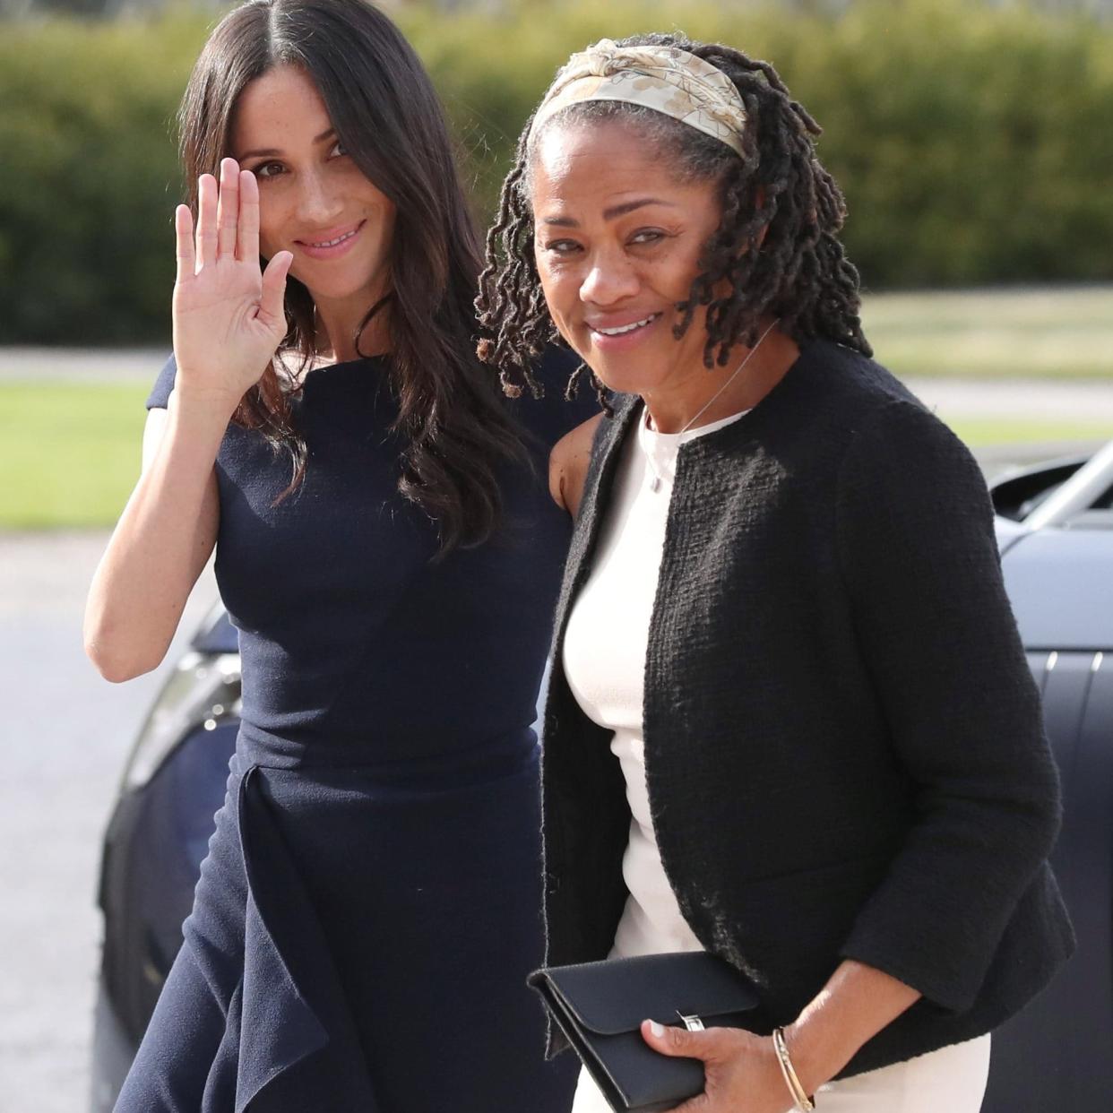
{"label": "navy blue dress with draped skirt on the waving woman", "polygon": [[[383,366],[312,372],[289,463],[229,426],[216,574],[239,629],[243,725],[185,944],[126,1113],[567,1113],[543,1061],[531,729],[570,534],[551,444],[594,410],[512,404],[533,467],[504,522],[441,561],[397,493]],[[174,365],[148,401],[165,406]]]}

